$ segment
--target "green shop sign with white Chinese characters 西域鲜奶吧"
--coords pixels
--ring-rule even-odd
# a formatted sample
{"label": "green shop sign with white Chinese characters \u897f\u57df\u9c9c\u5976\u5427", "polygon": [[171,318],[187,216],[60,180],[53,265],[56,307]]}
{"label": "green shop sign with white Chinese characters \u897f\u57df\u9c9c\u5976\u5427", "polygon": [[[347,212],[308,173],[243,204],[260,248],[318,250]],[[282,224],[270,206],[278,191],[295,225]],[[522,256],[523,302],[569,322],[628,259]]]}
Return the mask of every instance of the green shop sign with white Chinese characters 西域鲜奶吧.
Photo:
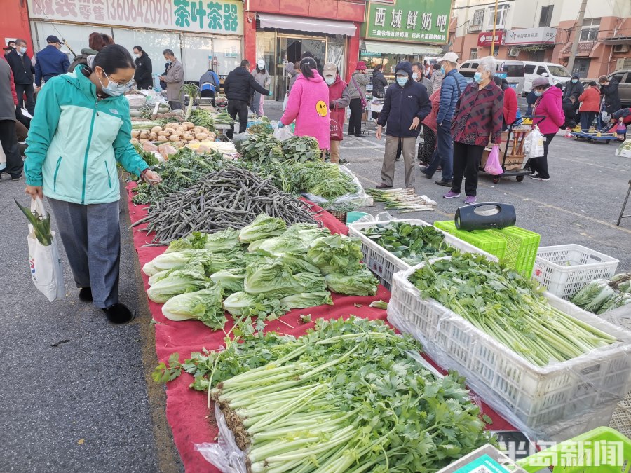
{"label": "green shop sign with white Chinese characters \u897f\u57df\u9c9c\u5976\u5427", "polygon": [[449,40],[451,0],[369,2],[364,39],[445,44]]}

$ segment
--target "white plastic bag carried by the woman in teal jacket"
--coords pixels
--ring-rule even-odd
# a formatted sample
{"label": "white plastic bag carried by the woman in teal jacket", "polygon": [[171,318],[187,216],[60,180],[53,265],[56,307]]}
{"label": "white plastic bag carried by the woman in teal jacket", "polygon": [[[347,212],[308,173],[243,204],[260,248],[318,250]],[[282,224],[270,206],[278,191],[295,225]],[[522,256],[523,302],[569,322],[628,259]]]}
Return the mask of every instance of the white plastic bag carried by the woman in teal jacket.
{"label": "white plastic bag carried by the woman in teal jacket", "polygon": [[[46,209],[38,197],[31,200],[31,212],[46,216]],[[64,299],[64,272],[61,266],[59,248],[55,232],[53,242],[49,246],[42,245],[35,237],[33,226],[29,225],[29,269],[35,287],[48,301]]]}

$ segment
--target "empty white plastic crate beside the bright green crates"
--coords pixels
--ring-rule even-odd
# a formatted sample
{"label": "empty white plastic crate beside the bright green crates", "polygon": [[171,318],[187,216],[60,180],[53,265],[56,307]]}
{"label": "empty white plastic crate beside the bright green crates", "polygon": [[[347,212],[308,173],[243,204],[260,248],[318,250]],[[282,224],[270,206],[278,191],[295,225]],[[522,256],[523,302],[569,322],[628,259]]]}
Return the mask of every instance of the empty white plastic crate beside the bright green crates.
{"label": "empty white plastic crate beside the bright green crates", "polygon": [[609,279],[616,273],[618,261],[581,245],[541,247],[537,251],[533,277],[548,292],[571,299],[595,279]]}

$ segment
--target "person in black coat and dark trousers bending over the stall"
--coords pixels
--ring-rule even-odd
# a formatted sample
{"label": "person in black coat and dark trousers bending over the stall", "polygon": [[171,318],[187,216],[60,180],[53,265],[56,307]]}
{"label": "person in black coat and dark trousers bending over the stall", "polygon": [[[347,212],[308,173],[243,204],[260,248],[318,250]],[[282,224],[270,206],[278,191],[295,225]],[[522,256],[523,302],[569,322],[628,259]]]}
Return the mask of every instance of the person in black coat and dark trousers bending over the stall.
{"label": "person in black coat and dark trousers bending over the stall", "polygon": [[[239,116],[239,132],[244,133],[247,128],[247,106],[250,104],[250,96],[252,89],[261,95],[273,95],[262,85],[259,85],[255,78],[250,74],[250,61],[244,59],[241,65],[230,71],[228,77],[224,81],[224,92],[228,99],[228,113],[233,118]],[[230,125],[228,137],[232,139],[234,125]]]}

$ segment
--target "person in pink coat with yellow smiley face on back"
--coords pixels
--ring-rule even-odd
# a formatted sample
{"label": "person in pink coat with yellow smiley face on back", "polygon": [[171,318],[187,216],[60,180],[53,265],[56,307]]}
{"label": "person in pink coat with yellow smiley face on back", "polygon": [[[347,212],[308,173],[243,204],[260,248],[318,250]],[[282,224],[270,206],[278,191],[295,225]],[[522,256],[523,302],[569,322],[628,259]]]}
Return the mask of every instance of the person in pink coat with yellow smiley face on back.
{"label": "person in pink coat with yellow smiley face on back", "polygon": [[329,88],[318,74],[318,65],[312,57],[301,60],[300,70],[302,74],[292,87],[280,126],[295,120],[294,135],[315,137],[320,149],[330,149]]}

